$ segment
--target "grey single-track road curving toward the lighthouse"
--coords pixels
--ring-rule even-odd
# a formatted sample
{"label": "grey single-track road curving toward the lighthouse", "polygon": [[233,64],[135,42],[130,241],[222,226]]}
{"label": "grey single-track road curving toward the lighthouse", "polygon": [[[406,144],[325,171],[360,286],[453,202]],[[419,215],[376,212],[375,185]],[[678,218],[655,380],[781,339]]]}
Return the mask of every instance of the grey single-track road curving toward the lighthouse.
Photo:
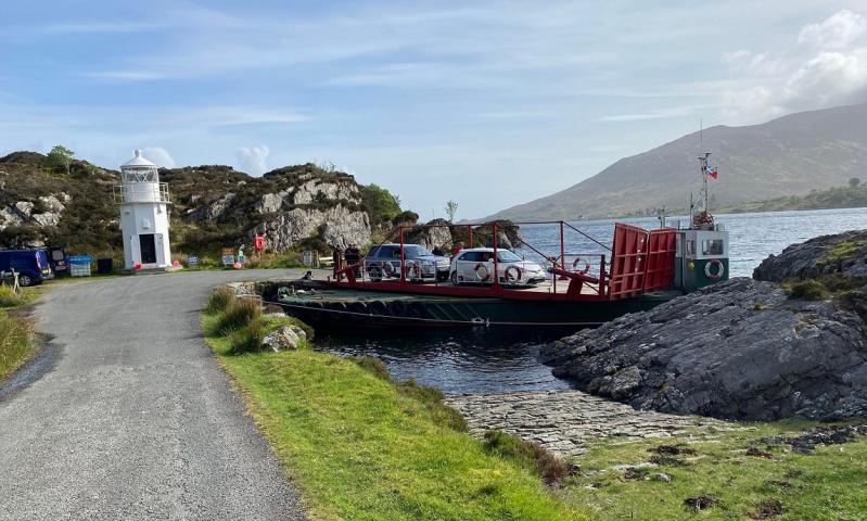
{"label": "grey single-track road curving toward the lighthouse", "polygon": [[36,308],[53,361],[0,385],[0,519],[304,519],[199,322],[214,285],[290,275],[58,284]]}

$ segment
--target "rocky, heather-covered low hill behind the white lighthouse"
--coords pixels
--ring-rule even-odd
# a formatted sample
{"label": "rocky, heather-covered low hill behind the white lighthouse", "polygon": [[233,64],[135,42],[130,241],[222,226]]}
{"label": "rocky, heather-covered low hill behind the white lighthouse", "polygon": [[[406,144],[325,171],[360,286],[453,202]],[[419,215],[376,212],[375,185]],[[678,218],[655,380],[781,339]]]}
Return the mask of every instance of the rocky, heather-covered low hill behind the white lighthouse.
{"label": "rocky, heather-covered low hill behind the white lighthouse", "polygon": [[[161,168],[160,176],[173,201],[176,254],[215,255],[220,246],[248,243],[256,232],[277,252],[366,244],[391,229],[391,219],[401,212],[387,190],[310,163],[263,177],[222,165]],[[54,244],[119,258],[119,213],[112,192],[118,183],[117,170],[86,161],[73,161],[67,173],[35,152],[0,157],[0,247]]]}

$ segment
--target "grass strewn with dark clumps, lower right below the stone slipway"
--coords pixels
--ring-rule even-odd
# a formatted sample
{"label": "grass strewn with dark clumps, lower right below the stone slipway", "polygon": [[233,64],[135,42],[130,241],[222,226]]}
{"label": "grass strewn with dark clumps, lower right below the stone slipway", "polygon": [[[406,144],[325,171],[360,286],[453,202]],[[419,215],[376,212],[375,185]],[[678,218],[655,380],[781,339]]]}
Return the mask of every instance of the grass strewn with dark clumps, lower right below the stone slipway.
{"label": "grass strewn with dark clumps, lower right below the stone slipway", "polygon": [[[761,507],[779,501],[777,520],[862,520],[867,519],[867,440],[817,448],[813,454],[785,452],[758,442],[767,435],[802,432],[812,427],[803,422],[751,424],[748,429],[715,434],[678,436],[674,440],[592,444],[578,462],[581,473],[566,480],[564,496],[573,505],[589,507],[592,519],[754,519]],[[658,455],[662,465],[624,472],[621,463],[649,461],[649,449],[677,445],[694,450],[678,456]],[[747,455],[757,447],[770,459]],[[758,454],[758,453],[757,453]],[[654,479],[666,473],[671,483]],[[648,479],[645,480],[643,478]],[[710,496],[718,504],[697,512],[685,500]]]}

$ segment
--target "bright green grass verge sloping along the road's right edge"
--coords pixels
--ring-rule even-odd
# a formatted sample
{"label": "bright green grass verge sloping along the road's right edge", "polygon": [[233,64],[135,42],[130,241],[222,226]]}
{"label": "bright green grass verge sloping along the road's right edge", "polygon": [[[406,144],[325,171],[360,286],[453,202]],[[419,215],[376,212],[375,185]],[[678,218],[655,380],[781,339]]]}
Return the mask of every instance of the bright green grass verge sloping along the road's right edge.
{"label": "bright green grass verge sloping along the road's right edge", "polygon": [[587,519],[534,472],[449,427],[417,396],[424,391],[310,350],[231,355],[227,338],[207,342],[313,519]]}

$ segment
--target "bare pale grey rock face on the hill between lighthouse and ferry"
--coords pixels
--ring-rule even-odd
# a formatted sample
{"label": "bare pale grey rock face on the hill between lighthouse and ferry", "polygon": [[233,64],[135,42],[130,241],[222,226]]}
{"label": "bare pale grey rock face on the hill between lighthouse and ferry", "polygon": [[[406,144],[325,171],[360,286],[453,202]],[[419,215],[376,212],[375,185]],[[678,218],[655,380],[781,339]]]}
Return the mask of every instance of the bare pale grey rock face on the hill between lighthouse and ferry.
{"label": "bare pale grey rock face on the hill between lighthouse and ferry", "polygon": [[250,230],[248,236],[263,234],[269,247],[283,252],[310,237],[318,237],[327,244],[341,249],[353,243],[369,244],[370,232],[367,213],[337,204],[324,209],[294,208],[282,212]]}

